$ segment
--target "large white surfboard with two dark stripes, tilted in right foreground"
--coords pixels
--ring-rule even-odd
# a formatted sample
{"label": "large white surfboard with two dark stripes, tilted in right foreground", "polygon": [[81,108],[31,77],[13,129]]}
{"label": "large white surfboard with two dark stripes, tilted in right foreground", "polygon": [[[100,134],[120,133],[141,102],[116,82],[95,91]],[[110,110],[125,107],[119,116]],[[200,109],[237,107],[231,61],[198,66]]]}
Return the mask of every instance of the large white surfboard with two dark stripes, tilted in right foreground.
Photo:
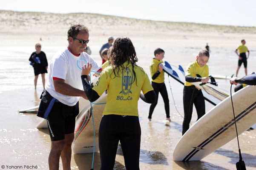
{"label": "large white surfboard with two dark stripes, tilted in right foreground", "polygon": [[[256,86],[247,86],[232,95],[238,134],[256,123]],[[208,111],[181,137],[174,161],[198,161],[236,137],[231,98]]]}

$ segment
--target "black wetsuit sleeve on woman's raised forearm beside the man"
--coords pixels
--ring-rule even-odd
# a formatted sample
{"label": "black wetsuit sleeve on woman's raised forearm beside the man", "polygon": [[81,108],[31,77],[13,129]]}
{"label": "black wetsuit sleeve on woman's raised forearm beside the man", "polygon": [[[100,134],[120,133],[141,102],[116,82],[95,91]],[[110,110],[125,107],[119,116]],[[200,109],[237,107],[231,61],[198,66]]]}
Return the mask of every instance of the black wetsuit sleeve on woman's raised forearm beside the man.
{"label": "black wetsuit sleeve on woman's raised forearm beside the man", "polygon": [[83,90],[90,102],[94,102],[97,100],[100,96],[97,92],[95,92],[92,89],[92,86],[89,83],[88,76],[87,75],[81,75],[82,83],[83,83]]}

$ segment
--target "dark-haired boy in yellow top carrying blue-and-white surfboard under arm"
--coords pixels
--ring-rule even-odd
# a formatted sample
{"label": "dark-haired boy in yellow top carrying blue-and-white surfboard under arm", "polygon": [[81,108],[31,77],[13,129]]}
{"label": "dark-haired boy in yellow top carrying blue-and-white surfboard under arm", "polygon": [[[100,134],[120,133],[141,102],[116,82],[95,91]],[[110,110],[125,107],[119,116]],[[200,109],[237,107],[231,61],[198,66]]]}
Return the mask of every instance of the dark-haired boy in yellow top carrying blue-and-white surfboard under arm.
{"label": "dark-haired boy in yellow top carrying blue-and-white surfboard under arm", "polygon": [[170,119],[170,106],[169,106],[169,98],[168,98],[168,93],[166,86],[164,84],[164,71],[163,71],[163,65],[162,59],[164,58],[164,50],[161,48],[157,48],[154,51],[155,58],[152,59],[151,64],[150,64],[150,73],[151,73],[151,78],[152,82],[151,85],[155,91],[156,94],[156,101],[155,103],[150,105],[150,111],[148,115],[148,119],[151,121],[153,111],[155,109],[155,106],[157,104],[158,100],[158,94],[160,94],[163,97],[164,100],[164,109],[166,113],[166,120],[169,122],[171,121]]}

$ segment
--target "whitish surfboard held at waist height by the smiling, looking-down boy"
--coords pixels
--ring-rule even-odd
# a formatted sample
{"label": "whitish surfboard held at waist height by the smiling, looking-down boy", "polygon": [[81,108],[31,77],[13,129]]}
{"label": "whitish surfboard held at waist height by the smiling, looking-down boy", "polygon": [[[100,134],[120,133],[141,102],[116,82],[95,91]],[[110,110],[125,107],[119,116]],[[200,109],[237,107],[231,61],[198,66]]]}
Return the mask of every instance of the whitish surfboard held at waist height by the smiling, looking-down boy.
{"label": "whitish surfboard held at waist height by the smiling, looking-down boy", "polygon": [[200,82],[192,82],[192,84],[194,84],[204,92],[207,92],[209,95],[213,95],[215,98],[221,101],[227,98],[228,96],[230,96],[230,92],[228,92],[227,90],[221,89],[218,86],[215,86],[210,83],[204,84],[200,81]]}

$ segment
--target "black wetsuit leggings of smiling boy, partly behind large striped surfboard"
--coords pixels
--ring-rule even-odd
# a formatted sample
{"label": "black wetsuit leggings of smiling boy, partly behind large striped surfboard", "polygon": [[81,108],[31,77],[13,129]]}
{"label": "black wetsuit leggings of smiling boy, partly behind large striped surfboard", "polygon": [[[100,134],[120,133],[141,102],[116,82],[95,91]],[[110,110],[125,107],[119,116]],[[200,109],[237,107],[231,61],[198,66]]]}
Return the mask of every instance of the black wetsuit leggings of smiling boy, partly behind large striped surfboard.
{"label": "black wetsuit leggings of smiling boy, partly behind large striped surfboard", "polygon": [[182,135],[189,129],[190,120],[192,118],[193,104],[196,107],[197,120],[205,114],[204,95],[201,90],[195,86],[184,86],[183,89],[183,107],[184,120],[182,124]]}

